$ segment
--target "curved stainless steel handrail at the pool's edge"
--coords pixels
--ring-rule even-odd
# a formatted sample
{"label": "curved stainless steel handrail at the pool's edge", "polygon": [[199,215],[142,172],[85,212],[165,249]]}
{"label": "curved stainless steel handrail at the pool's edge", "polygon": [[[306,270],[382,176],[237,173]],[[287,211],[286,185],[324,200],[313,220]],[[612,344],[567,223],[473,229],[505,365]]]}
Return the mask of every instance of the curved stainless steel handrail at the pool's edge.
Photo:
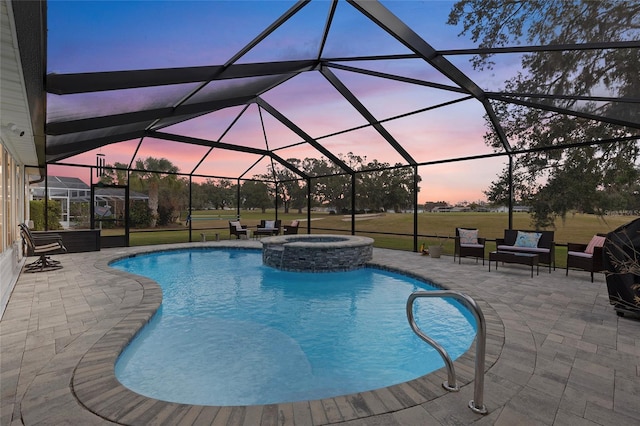
{"label": "curved stainless steel handrail at the pool's edge", "polygon": [[487,407],[485,407],[483,403],[484,360],[487,340],[487,327],[482,310],[480,309],[476,301],[473,300],[470,296],[452,290],[415,291],[411,293],[409,295],[409,299],[407,299],[407,319],[409,320],[409,325],[411,326],[411,329],[414,331],[414,333],[416,333],[422,340],[433,346],[433,348],[438,351],[438,353],[444,360],[444,363],[447,367],[447,381],[442,383],[442,387],[452,392],[457,392],[458,390],[460,390],[460,387],[456,383],[456,372],[451,357],[440,344],[424,334],[415,322],[415,318],[413,315],[413,303],[419,297],[452,297],[462,302],[462,304],[465,305],[471,311],[471,313],[473,313],[473,316],[476,319],[477,327],[475,364],[476,371],[473,399],[469,401],[469,408],[474,413],[487,414]]}

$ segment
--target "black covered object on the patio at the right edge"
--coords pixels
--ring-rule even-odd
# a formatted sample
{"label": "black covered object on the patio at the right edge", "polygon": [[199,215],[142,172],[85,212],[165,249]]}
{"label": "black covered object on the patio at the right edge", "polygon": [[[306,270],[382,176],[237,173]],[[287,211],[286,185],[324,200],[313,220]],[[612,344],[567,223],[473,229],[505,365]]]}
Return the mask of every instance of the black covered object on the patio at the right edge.
{"label": "black covered object on the patio at the right edge", "polygon": [[607,234],[603,256],[609,302],[619,315],[640,313],[640,219]]}

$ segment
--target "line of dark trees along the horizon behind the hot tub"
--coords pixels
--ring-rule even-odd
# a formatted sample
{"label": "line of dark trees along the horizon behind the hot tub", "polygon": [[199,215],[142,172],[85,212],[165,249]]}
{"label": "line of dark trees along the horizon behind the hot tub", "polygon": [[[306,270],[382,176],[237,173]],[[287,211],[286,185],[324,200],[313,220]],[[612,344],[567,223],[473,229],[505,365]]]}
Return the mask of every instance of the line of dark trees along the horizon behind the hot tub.
{"label": "line of dark trees along the horizon behind the hot tub", "polygon": [[[355,178],[355,208],[357,211],[402,211],[413,208],[413,169],[392,167],[377,160],[351,153],[340,156],[353,170],[361,172]],[[310,176],[311,206],[327,207],[337,213],[351,209],[350,175],[325,158],[288,159],[295,167]],[[135,202],[130,215],[133,226],[155,227],[177,221],[180,213],[189,208],[189,179],[165,158],[149,157],[136,162],[135,170],[127,173],[127,165],[115,163],[105,169],[101,181],[105,184],[129,183],[131,191],[149,196],[148,203]],[[342,173],[342,174],[341,174]],[[419,182],[419,177],[417,177]],[[276,185],[276,182],[277,185]],[[191,207],[202,209],[259,209],[263,212],[276,205],[286,213],[291,209],[302,212],[307,208],[307,182],[289,169],[275,165],[264,175],[240,183],[229,179],[207,179],[191,184]]]}

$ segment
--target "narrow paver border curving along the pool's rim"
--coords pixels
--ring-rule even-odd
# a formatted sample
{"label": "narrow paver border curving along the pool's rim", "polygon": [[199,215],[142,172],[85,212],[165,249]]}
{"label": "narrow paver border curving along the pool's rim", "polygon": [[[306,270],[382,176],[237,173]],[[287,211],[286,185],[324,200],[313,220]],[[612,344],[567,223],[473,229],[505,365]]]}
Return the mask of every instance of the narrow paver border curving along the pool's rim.
{"label": "narrow paver border curving along the pool's rim", "polygon": [[[161,401],[140,395],[123,386],[115,376],[118,356],[140,329],[151,319],[162,302],[160,286],[153,280],[111,268],[115,260],[159,251],[184,250],[186,248],[256,250],[254,247],[198,245],[175,248],[154,248],[146,246],[127,253],[116,253],[100,259],[95,267],[120,279],[140,286],[143,295],[140,303],[122,320],[110,328],[80,359],[76,365],[71,388],[79,403],[90,412],[103,419],[121,424],[150,424],[157,422],[179,423],[196,418],[213,420],[219,416],[228,419],[227,424],[235,424],[232,419],[257,419],[256,424],[278,424],[283,413],[307,413],[311,424],[331,424],[365,419],[385,413],[393,413],[415,407],[448,392],[442,387],[447,380],[445,367],[409,382],[371,391],[336,396],[332,398],[286,402],[252,406],[205,406]],[[456,290],[438,283],[420,273],[411,273],[374,261],[367,266],[393,271],[435,284],[443,289]],[[484,369],[491,368],[500,357],[505,341],[504,325],[496,311],[484,300],[475,297],[482,309],[487,324],[487,344]],[[457,380],[460,388],[472,383],[475,369],[475,341],[471,348],[455,361]],[[296,417],[296,420],[298,418]],[[240,420],[242,422],[242,420]],[[242,424],[242,423],[238,423]]]}

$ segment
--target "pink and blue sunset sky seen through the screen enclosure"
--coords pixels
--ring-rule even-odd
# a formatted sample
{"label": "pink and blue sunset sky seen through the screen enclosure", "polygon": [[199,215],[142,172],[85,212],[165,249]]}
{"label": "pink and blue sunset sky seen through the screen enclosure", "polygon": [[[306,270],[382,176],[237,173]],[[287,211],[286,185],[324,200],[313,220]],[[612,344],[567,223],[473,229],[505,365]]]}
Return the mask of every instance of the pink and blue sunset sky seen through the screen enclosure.
{"label": "pink and blue sunset sky seen through the screen enclosure", "polygon": [[[452,1],[383,1],[435,49],[474,47],[460,28],[446,25]],[[48,2],[48,72],[82,73],[185,66],[221,65],[289,9],[291,1],[60,1]],[[330,3],[313,0],[294,18],[263,40],[238,63],[308,59],[318,51],[319,35]],[[323,57],[409,53],[408,49],[371,23],[346,2],[338,5]],[[469,56],[449,60],[485,90],[498,90],[519,70],[520,55],[499,58],[494,71],[474,71]],[[453,86],[422,60],[407,59],[345,65],[425,79]],[[450,91],[409,85],[333,69],[332,72],[380,121],[463,98]],[[211,90],[231,89],[235,81],[220,81]],[[242,84],[251,84],[250,81]],[[78,95],[48,96],[48,120],[64,120],[166,106],[167,91],[183,93],[189,85],[129,89]],[[205,89],[205,93],[207,90]],[[329,136],[364,125],[366,120],[318,72],[292,78],[263,99],[335,154],[353,152],[390,164],[404,159],[371,127]],[[171,98],[173,99],[173,98]],[[280,149],[283,158],[318,157],[308,145],[288,147],[300,137],[251,105],[224,134],[241,111],[229,108],[170,126],[162,131],[242,146]],[[385,121],[395,140],[419,163],[491,153],[483,141],[484,109],[475,100]],[[262,121],[261,121],[262,120]],[[264,132],[263,132],[264,125]],[[224,134],[222,139],[221,136]],[[266,134],[266,138],[265,138]],[[129,163],[138,141],[126,141],[65,159],[65,163],[95,163],[96,153],[107,163]],[[288,148],[283,148],[288,147]],[[181,172],[211,176],[262,174],[269,164],[254,155],[213,150],[195,169],[208,148],[147,138],[136,158],[165,157]],[[421,166],[419,201],[478,201],[502,170],[506,157]],[[68,167],[51,166],[52,175],[78,175]],[[89,172],[79,177],[88,181]]]}

